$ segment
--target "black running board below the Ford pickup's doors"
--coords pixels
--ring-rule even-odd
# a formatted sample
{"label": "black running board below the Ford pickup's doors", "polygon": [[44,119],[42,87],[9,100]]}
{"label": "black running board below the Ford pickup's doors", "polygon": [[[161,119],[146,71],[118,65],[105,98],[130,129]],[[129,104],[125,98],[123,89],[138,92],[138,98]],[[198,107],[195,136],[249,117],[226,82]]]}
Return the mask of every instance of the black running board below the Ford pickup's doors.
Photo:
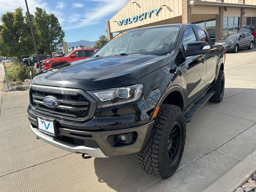
{"label": "black running board below the Ford pickup's doors", "polygon": [[192,120],[195,114],[202,108],[202,106],[204,106],[204,104],[206,104],[206,102],[214,95],[214,93],[214,91],[208,91],[206,95],[185,114],[186,123]]}

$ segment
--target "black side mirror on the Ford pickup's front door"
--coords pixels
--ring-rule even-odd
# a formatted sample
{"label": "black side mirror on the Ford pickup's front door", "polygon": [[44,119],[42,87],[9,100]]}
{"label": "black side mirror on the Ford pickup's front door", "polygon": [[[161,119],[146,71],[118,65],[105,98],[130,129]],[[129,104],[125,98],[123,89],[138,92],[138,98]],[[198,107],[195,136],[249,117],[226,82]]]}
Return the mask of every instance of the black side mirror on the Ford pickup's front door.
{"label": "black side mirror on the Ford pickup's front door", "polygon": [[187,51],[183,52],[185,57],[210,53],[210,45],[205,41],[190,42]]}

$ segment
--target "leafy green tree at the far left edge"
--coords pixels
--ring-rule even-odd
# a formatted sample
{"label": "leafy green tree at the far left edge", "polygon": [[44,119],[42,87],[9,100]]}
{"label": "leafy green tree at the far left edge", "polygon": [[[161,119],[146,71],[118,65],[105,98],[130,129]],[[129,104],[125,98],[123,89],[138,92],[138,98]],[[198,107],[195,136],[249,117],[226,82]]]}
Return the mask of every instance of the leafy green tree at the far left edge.
{"label": "leafy green tree at the far left edge", "polygon": [[22,8],[14,12],[6,12],[1,17],[0,25],[0,55],[20,56],[32,53],[34,46],[30,28],[22,14]]}

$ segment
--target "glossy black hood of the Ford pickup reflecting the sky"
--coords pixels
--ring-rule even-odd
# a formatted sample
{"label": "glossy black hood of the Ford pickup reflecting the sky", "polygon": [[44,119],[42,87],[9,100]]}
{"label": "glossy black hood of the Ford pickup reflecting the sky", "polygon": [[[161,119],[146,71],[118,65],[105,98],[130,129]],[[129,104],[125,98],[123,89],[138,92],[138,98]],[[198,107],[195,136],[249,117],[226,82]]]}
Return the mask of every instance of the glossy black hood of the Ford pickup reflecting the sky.
{"label": "glossy black hood of the Ford pickup reflecting the sky", "polygon": [[63,64],[34,77],[32,84],[100,90],[136,84],[138,79],[172,62],[172,55],[88,58]]}

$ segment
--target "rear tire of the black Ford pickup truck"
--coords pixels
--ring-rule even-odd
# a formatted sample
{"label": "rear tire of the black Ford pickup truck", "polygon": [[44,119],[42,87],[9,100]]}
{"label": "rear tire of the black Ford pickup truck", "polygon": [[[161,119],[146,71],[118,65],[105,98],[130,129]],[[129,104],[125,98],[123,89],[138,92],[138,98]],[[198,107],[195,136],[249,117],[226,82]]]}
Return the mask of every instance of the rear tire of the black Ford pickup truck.
{"label": "rear tire of the black Ford pickup truck", "polygon": [[210,98],[210,102],[212,103],[219,103],[223,99],[224,89],[225,89],[225,74],[222,70],[220,70],[218,74],[217,81],[215,85],[212,86],[212,90],[215,91],[214,95]]}

